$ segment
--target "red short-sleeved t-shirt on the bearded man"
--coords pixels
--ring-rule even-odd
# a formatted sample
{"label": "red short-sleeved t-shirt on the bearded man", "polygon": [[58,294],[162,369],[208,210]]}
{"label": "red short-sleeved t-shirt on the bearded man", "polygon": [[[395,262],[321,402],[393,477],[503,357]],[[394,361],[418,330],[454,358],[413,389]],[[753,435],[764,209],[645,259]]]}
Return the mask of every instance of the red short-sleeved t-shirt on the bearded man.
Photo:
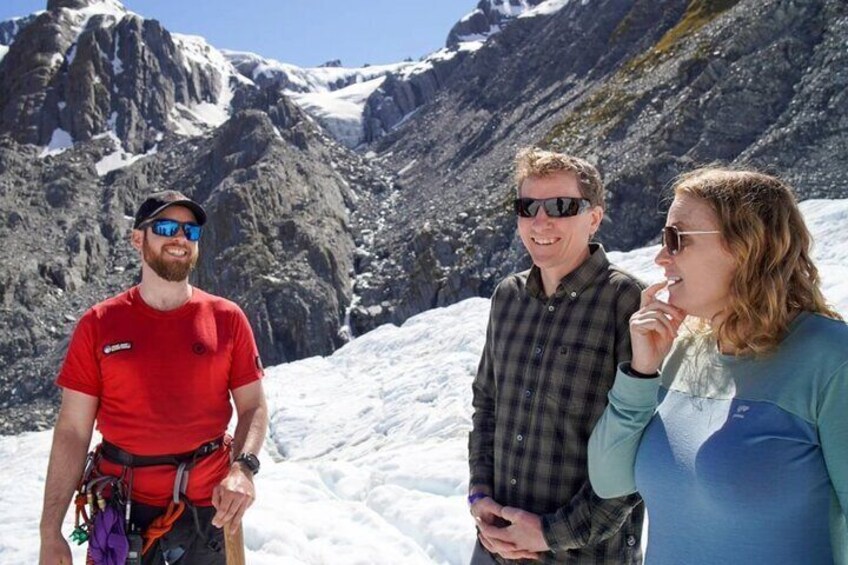
{"label": "red short-sleeved t-shirt on the bearded man", "polygon": [[[186,304],[162,312],[133,287],[80,318],[56,384],[98,397],[97,429],[110,443],[135,455],[170,455],[224,435],[230,391],[261,377],[238,306],[194,288]],[[189,474],[189,500],[210,505],[229,467],[228,447],[202,459]],[[105,460],[100,468],[121,472]],[[175,475],[173,466],[136,468],[133,500],[167,505]]]}

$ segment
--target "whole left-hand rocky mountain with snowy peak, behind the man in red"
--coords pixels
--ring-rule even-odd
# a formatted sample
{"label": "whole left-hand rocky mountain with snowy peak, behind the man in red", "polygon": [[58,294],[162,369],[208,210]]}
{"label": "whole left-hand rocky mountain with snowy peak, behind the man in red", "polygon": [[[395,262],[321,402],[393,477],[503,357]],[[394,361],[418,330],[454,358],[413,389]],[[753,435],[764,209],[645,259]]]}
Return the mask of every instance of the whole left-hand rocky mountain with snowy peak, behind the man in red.
{"label": "whole left-hand rocky mountain with snowy peak, behind the man in red", "polygon": [[78,316],[133,284],[158,189],[210,212],[195,282],[267,364],[344,343],[357,201],[388,189],[277,89],[119,4],[51,1],[0,61],[0,432],[43,426]]}

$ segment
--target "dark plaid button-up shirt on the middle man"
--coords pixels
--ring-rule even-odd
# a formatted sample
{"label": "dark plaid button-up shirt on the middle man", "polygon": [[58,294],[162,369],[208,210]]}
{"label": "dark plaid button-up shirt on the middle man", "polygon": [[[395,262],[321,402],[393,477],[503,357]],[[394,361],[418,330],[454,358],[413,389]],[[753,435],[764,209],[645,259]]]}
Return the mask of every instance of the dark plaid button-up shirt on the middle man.
{"label": "dark plaid button-up shirt on the middle man", "polygon": [[599,498],[586,451],[616,367],[630,360],[642,285],[600,245],[590,251],[551,297],[535,266],[495,290],[473,385],[470,482],[542,516],[552,550],[542,563],[639,564],[641,499]]}

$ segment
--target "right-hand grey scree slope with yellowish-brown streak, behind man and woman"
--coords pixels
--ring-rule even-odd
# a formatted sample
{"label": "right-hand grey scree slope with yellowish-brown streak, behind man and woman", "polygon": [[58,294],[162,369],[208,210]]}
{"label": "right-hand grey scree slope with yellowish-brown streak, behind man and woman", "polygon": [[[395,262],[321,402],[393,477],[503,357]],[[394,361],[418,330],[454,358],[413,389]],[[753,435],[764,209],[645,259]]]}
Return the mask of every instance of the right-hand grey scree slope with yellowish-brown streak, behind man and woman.
{"label": "right-hand grey scree slope with yellowish-brown streak, behind man and woman", "polygon": [[512,21],[370,147],[398,179],[354,327],[485,295],[526,266],[508,205],[522,146],[599,166],[612,249],[655,240],[664,187],[698,164],[845,197],[846,31],[837,0],[593,0]]}

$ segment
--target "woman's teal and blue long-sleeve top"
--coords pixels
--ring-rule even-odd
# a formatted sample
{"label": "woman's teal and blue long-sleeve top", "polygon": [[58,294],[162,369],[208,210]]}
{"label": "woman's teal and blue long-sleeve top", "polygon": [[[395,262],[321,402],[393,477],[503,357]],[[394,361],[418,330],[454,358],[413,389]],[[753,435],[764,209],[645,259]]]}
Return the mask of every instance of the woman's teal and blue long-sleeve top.
{"label": "woman's teal and blue long-sleeve top", "polygon": [[777,351],[678,339],[621,367],[589,442],[601,497],[638,491],[646,565],[848,564],[848,326],[802,313]]}

